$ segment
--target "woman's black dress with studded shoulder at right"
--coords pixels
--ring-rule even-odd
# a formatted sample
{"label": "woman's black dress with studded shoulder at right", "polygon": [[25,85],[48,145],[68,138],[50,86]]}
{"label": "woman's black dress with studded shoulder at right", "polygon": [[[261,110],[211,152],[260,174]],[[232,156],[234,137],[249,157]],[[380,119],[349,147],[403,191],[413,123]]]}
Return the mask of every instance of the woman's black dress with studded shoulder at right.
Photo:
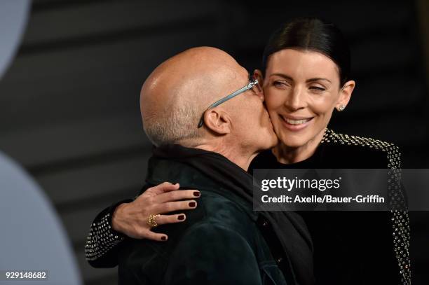
{"label": "woman's black dress with studded shoulder at right", "polygon": [[[397,146],[327,130],[307,160],[285,165],[264,151],[252,169],[400,168]],[[313,239],[317,284],[410,284],[404,211],[300,211]]]}

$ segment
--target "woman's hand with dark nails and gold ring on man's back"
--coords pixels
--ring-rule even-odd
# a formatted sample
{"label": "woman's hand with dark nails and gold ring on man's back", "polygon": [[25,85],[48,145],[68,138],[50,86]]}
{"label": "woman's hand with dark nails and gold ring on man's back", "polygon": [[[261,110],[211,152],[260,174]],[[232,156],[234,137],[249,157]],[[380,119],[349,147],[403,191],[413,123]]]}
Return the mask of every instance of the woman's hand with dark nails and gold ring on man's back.
{"label": "woman's hand with dark nails and gold ring on man's back", "polygon": [[179,183],[164,182],[147,189],[133,202],[120,204],[112,216],[112,227],[135,239],[167,240],[167,235],[151,231],[152,227],[148,224],[149,216],[155,215],[155,222],[158,225],[185,221],[185,214],[165,215],[165,213],[195,209],[197,203],[193,199],[200,197],[200,191],[179,190],[179,187]]}

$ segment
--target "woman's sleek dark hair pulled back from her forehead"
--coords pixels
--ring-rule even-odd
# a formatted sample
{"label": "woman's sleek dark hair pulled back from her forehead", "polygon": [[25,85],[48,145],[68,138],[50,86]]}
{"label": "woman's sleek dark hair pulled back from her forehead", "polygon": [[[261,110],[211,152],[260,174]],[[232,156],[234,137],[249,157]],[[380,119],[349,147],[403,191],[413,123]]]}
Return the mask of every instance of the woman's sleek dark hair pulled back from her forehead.
{"label": "woman's sleek dark hair pulled back from her forehead", "polygon": [[264,76],[268,57],[286,48],[312,50],[329,57],[339,69],[341,86],[350,78],[350,49],[341,31],[332,23],[318,18],[296,18],[283,24],[271,35],[264,49]]}

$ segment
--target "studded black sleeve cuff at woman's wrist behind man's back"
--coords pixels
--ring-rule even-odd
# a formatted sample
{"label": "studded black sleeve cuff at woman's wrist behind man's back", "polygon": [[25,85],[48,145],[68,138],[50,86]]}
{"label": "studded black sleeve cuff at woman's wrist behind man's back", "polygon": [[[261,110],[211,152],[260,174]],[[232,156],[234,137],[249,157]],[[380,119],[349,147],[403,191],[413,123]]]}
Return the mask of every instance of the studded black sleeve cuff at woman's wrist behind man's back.
{"label": "studded black sleeve cuff at woman's wrist behind man's back", "polygon": [[111,227],[111,217],[119,204],[132,202],[132,199],[116,202],[95,217],[86,238],[85,256],[93,267],[115,267],[118,265],[118,245],[125,235]]}

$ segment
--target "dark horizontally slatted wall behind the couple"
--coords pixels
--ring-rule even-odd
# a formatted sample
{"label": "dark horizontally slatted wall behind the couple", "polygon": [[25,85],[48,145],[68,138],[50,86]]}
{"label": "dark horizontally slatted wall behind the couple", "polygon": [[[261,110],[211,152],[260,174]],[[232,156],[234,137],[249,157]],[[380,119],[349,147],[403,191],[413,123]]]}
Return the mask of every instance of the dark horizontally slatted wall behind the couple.
{"label": "dark horizontally slatted wall behind the couple", "polygon": [[[46,190],[86,284],[116,284],[116,269],[89,267],[83,246],[95,214],[142,186],[151,145],[138,97],[156,65],[192,46],[217,46],[252,70],[281,22],[322,16],[348,36],[357,81],[331,127],[392,141],[404,167],[428,168],[429,35],[418,17],[429,14],[416,8],[421,2],[34,0],[0,81],[0,149]],[[411,219],[414,280],[427,284],[429,215]]]}

